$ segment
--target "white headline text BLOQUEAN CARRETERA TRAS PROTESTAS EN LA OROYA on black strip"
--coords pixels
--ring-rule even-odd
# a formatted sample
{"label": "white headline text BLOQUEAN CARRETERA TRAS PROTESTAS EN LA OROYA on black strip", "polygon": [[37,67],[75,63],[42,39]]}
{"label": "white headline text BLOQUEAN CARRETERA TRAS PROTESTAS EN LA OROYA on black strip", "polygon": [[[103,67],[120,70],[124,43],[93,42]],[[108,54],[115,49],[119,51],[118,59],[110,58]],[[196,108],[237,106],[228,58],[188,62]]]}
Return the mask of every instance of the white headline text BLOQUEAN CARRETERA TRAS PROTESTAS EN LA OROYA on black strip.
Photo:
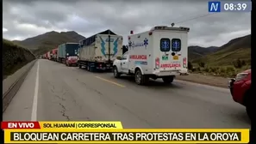
{"label": "white headline text BLOQUEAN CARRETERA TRAS PROTESTAS EN LA OROYA on black strip", "polygon": [[241,141],[240,132],[11,132],[10,141]]}

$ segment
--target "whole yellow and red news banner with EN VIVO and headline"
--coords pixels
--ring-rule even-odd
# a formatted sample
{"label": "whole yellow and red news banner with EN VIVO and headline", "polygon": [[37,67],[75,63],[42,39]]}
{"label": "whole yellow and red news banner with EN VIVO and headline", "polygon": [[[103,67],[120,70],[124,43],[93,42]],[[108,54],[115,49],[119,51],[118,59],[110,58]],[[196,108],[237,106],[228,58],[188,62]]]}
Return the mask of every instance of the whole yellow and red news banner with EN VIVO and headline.
{"label": "whole yellow and red news banner with EN VIVO and headline", "polygon": [[4,143],[248,143],[249,129],[122,129],[121,122],[3,122]]}

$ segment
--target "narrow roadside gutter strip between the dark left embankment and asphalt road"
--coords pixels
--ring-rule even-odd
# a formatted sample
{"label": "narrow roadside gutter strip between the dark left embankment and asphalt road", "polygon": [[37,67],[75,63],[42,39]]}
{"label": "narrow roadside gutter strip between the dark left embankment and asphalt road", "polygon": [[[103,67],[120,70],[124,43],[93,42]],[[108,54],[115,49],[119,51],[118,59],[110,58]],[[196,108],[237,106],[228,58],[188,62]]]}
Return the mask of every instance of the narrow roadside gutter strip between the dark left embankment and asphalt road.
{"label": "narrow roadside gutter strip between the dark left embankment and asphalt road", "polygon": [[28,75],[30,69],[34,66],[36,60],[37,59],[26,64],[21,69],[18,69],[13,75],[9,75],[3,80],[3,112],[22,86],[23,81]]}

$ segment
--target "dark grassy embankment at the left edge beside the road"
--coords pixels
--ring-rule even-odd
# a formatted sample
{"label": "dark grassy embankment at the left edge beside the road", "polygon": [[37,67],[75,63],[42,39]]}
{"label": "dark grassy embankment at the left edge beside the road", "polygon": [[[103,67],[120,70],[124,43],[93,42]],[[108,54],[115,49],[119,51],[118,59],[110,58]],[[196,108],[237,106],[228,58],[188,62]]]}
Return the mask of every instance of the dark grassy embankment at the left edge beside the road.
{"label": "dark grassy embankment at the left edge beside the road", "polygon": [[3,79],[12,75],[17,69],[34,60],[34,54],[28,49],[14,45],[9,40],[3,39]]}

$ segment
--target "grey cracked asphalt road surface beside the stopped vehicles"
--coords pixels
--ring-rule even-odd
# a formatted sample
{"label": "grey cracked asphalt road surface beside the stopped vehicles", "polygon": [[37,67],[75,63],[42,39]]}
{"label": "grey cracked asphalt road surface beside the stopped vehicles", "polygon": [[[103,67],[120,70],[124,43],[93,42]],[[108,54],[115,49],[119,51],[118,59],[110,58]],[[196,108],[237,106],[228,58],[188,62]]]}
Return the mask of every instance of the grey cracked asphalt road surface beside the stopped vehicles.
{"label": "grey cracked asphalt road surface beside the stopped vehicles", "polygon": [[134,79],[38,60],[3,120],[121,121],[124,128],[250,128],[228,89]]}

